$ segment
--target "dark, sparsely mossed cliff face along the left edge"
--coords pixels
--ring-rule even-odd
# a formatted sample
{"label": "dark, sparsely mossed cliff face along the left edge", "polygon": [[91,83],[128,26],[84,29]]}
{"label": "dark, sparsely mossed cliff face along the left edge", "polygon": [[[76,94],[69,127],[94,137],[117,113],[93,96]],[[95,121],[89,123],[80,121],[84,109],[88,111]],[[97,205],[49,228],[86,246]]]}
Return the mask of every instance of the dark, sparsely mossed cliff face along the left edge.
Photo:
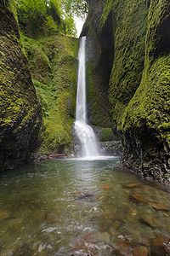
{"label": "dark, sparsely mossed cliff face along the left edge", "polygon": [[0,170],[25,163],[37,144],[41,106],[8,1],[0,2]]}

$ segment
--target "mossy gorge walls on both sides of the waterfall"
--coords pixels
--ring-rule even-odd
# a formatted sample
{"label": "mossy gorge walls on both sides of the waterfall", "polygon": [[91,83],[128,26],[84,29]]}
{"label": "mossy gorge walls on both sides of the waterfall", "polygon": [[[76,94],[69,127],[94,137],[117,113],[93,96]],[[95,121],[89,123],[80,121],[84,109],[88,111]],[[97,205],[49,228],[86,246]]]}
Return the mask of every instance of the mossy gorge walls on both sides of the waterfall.
{"label": "mossy gorge walls on both sides of the waterfall", "polygon": [[[88,120],[122,140],[122,166],[169,181],[170,3],[88,2],[81,35],[88,46]],[[37,148],[72,154],[76,112],[78,39],[64,35],[57,11],[33,27],[13,7],[1,1],[2,170],[24,164]],[[58,25],[48,26],[49,17]]]}

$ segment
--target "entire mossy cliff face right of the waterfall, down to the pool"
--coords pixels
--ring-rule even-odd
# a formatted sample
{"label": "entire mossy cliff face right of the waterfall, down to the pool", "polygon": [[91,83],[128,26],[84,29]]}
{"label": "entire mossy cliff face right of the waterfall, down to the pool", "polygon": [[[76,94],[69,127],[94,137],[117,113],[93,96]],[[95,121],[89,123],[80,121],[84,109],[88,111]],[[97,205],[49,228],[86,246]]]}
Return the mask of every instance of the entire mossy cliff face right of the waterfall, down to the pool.
{"label": "entire mossy cliff face right of the waterfall, down to the pool", "polygon": [[90,0],[82,30],[95,49],[95,88],[102,74],[111,127],[122,137],[122,165],[160,180],[170,172],[169,11],[168,1]]}

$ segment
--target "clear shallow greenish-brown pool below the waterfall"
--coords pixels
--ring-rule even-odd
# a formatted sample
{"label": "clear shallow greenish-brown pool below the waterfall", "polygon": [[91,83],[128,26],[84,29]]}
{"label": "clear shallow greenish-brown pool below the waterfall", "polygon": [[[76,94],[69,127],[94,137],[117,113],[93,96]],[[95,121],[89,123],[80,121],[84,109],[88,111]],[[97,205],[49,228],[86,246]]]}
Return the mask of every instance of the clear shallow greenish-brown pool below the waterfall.
{"label": "clear shallow greenish-brown pool below the waterfall", "polygon": [[[0,175],[0,255],[114,254],[118,239],[170,236],[169,187],[119,167],[119,159],[48,160]],[[139,188],[127,189],[127,183]],[[136,203],[129,195],[146,199]],[[143,215],[156,227],[140,221]]]}

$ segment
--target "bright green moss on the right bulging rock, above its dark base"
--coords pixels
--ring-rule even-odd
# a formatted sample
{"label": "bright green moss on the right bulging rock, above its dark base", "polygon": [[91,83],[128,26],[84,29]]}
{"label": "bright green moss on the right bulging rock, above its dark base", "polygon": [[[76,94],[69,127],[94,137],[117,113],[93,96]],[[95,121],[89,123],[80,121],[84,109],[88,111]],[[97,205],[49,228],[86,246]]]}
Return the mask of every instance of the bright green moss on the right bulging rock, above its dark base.
{"label": "bright green moss on the right bulging rock, above its dark base", "polygon": [[145,122],[150,129],[157,130],[157,137],[163,139],[169,134],[169,60],[169,56],[162,56],[151,67],[145,67],[139,89],[124,113],[122,131],[130,125],[141,127]]}

